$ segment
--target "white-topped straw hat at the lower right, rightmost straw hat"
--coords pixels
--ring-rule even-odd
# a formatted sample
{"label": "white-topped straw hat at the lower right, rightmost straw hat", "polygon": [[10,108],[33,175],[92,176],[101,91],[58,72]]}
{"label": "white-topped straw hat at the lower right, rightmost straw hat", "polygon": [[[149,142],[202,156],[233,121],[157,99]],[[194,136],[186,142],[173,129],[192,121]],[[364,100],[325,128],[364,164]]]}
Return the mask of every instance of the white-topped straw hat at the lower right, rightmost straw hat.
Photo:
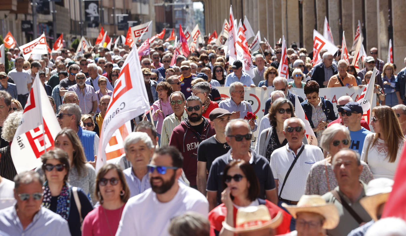
{"label": "white-topped straw hat at the lower right, rightmost straw hat", "polygon": [[376,178],[369,181],[365,191],[365,197],[359,200],[361,206],[369,216],[378,221],[377,210],[380,204],[387,202],[389,193],[392,191],[393,180],[389,178]]}

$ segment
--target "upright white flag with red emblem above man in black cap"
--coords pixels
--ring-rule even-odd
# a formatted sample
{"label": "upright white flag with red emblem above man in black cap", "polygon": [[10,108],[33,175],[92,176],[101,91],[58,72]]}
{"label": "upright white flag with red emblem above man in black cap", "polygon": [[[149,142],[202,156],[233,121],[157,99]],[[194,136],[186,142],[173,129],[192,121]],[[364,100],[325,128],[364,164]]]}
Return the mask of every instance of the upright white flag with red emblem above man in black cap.
{"label": "upright white flag with red emblem above man in black cap", "polygon": [[255,77],[254,65],[251,59],[250,51],[248,50],[248,42],[245,38],[244,26],[242,25],[241,20],[238,26],[238,35],[237,42],[235,43],[235,51],[237,53],[237,60],[240,60],[242,62],[242,71],[250,75],[251,78]]}

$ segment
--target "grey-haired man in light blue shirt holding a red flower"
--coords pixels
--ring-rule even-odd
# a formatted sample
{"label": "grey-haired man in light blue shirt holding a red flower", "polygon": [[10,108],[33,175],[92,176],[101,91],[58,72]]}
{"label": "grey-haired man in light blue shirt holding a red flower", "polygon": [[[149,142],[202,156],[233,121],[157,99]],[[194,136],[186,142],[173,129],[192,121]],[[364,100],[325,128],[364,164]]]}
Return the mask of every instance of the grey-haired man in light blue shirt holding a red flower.
{"label": "grey-haired man in light blue shirt holding a red flower", "polygon": [[[231,83],[229,92],[231,98],[221,101],[218,104],[218,107],[231,112],[230,119],[244,118],[244,116],[247,115],[247,112],[253,112],[251,103],[244,101],[244,84],[241,82]],[[257,120],[249,120],[248,124],[250,125],[252,132],[257,130]]]}

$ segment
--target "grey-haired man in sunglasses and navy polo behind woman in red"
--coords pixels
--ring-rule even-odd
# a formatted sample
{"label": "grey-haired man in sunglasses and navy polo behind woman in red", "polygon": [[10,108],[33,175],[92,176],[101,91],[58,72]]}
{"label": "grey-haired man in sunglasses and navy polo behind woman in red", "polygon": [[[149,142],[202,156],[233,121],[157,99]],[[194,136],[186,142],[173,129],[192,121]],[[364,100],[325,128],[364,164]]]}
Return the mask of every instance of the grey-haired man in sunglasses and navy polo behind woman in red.
{"label": "grey-haired man in sunglasses and navy polo behind woman in red", "polygon": [[249,162],[259,180],[259,198],[267,199],[276,204],[278,202],[272,171],[265,157],[255,154],[251,150],[251,137],[253,133],[248,122],[243,119],[230,120],[225,128],[227,144],[231,147],[226,154],[217,157],[210,167],[207,179],[207,200],[212,210],[221,203],[223,189],[223,169],[232,160],[242,159]]}

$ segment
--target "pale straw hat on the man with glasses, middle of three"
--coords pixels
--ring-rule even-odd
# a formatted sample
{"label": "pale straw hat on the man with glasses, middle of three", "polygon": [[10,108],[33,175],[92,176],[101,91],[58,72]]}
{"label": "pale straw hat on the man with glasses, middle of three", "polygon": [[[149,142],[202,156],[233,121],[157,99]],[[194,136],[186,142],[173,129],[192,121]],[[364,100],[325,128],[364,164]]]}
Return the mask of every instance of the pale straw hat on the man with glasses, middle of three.
{"label": "pale straw hat on the man with glasses, middle of three", "polygon": [[282,203],[282,206],[292,215],[297,218],[298,212],[313,212],[324,217],[324,229],[331,230],[337,227],[339,215],[337,207],[333,203],[326,203],[320,195],[303,195],[296,206]]}

